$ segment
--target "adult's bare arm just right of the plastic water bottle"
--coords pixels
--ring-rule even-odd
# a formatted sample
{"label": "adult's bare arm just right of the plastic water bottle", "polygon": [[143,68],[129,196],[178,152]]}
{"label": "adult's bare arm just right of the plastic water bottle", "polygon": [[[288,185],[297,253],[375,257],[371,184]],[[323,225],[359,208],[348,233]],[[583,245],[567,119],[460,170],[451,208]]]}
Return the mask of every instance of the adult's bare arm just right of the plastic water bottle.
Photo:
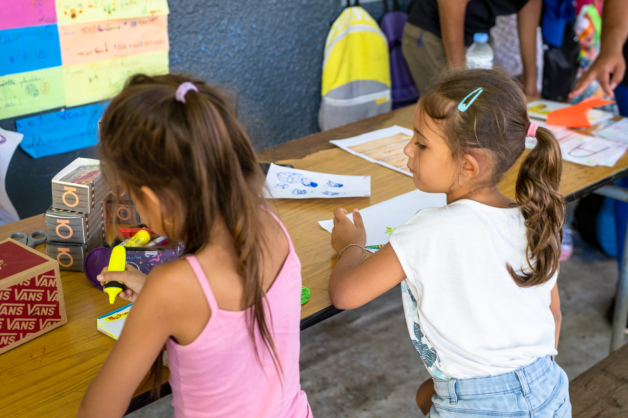
{"label": "adult's bare arm just right of the plastic water bottle", "polygon": [[523,63],[521,81],[526,94],[530,97],[541,97],[536,88],[536,28],[541,21],[541,6],[541,0],[529,0],[517,13],[517,29]]}

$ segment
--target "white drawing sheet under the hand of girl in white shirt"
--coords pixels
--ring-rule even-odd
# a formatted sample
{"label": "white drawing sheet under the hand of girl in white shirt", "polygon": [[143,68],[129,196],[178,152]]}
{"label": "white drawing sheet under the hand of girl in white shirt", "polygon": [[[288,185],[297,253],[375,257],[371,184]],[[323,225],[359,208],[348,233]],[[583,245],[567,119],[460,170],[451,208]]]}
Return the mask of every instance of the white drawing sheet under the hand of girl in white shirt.
{"label": "white drawing sheet under the hand of girl in white shirt", "polygon": [[[445,193],[425,193],[413,190],[392,199],[384,200],[360,210],[366,230],[366,249],[376,252],[387,244],[388,236],[423,208],[441,207],[447,204]],[[347,218],[353,222],[353,208],[345,208]],[[318,221],[326,231],[332,232],[333,219]]]}

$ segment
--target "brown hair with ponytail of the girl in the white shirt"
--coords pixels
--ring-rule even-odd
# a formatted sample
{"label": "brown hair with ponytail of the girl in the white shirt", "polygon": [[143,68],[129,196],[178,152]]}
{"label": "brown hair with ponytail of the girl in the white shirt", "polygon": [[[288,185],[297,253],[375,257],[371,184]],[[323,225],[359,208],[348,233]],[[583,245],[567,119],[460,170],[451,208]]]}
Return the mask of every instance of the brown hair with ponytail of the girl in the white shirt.
{"label": "brown hair with ponytail of the girl in the white shirt", "polygon": [[[458,104],[472,91],[484,90],[465,112]],[[468,102],[467,99],[465,103]],[[499,70],[454,70],[441,75],[421,95],[420,111],[443,122],[445,139],[455,161],[483,149],[490,159],[495,186],[525,149],[530,119],[521,85]],[[528,268],[508,272],[521,287],[548,281],[559,268],[565,200],[560,193],[563,171],[560,146],[543,127],[536,131],[538,144],[524,159],[516,181],[515,198],[525,219]]]}

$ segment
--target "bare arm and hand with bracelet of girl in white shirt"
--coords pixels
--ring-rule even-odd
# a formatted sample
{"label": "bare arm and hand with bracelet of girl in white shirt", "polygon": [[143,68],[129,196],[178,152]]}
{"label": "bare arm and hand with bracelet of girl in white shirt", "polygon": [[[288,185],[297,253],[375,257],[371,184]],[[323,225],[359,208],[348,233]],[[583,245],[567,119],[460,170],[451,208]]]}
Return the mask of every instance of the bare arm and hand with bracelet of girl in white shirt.
{"label": "bare arm and hand with bracelet of girl in white shirt", "polygon": [[[346,213],[343,208],[333,212],[332,247],[336,252],[349,244],[366,245],[362,215],[357,209],[354,210],[354,225],[345,216]],[[360,262],[362,254],[362,249],[352,245],[342,252],[333,268],[329,279],[329,297],[338,309],[358,308],[406,278],[390,244]]]}

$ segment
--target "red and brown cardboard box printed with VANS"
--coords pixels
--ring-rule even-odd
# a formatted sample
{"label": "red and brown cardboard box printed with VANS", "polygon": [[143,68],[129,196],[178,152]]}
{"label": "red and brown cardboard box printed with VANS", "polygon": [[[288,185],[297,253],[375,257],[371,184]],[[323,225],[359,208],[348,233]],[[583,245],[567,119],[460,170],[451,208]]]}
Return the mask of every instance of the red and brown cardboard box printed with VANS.
{"label": "red and brown cardboard box printed with VANS", "polygon": [[0,241],[0,354],[67,321],[57,261]]}

